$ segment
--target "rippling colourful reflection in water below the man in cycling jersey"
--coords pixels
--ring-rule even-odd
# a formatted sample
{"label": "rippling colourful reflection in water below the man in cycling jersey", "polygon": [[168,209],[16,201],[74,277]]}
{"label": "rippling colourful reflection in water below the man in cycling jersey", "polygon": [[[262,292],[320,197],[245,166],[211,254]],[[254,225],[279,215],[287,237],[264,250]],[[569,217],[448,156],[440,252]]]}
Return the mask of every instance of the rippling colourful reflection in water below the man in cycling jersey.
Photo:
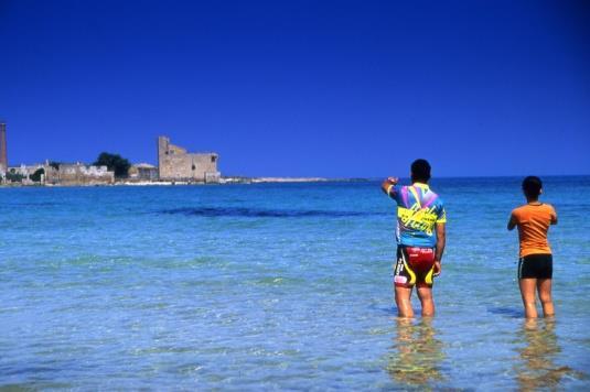
{"label": "rippling colourful reflection in water below the man in cycling jersey", "polygon": [[397,338],[388,358],[387,372],[396,383],[425,386],[442,380],[439,366],[444,355],[436,338],[430,319],[418,324],[408,318],[397,319]]}

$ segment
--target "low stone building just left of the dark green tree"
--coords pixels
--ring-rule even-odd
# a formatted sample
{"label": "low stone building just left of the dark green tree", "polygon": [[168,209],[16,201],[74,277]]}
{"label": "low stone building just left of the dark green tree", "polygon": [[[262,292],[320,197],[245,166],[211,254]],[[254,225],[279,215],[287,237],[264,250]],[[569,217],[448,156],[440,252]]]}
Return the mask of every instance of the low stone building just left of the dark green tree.
{"label": "low stone building just left of the dark green tree", "polygon": [[115,183],[115,172],[107,166],[93,166],[82,163],[45,164],[45,184],[52,185],[104,185]]}

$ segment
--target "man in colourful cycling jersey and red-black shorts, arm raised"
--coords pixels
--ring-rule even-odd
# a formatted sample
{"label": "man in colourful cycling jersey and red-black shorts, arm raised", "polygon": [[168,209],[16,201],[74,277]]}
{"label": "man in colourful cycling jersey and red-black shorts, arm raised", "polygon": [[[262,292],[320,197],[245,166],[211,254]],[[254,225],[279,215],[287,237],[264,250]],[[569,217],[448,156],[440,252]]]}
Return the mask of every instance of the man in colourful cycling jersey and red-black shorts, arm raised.
{"label": "man in colourful cycling jersey and red-black shorts, arm raised", "polygon": [[389,177],[382,189],[397,203],[397,263],[394,282],[400,317],[414,317],[411,290],[416,285],[422,316],[435,315],[432,277],[441,272],[447,213],[440,197],[430,190],[430,164],[416,160],[411,164],[411,185],[397,185]]}

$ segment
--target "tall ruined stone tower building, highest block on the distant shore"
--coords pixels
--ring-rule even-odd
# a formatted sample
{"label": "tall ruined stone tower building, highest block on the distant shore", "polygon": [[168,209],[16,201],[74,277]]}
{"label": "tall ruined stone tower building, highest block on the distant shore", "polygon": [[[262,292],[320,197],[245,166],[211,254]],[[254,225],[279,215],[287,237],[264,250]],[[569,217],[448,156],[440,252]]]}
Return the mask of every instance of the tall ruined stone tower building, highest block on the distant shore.
{"label": "tall ruined stone tower building, highest block on the distant shore", "polygon": [[158,138],[158,174],[161,181],[218,183],[216,153],[189,153],[171,144],[167,137]]}

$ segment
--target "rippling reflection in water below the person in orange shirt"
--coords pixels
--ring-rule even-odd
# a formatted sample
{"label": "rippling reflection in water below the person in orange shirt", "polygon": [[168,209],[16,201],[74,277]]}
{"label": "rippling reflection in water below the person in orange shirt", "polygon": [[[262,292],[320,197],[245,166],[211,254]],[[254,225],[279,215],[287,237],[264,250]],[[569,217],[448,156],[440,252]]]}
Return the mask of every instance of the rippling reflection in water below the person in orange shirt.
{"label": "rippling reflection in water below the person in orange shirt", "polygon": [[555,335],[555,320],[525,320],[523,329],[518,331],[518,340],[526,344],[518,349],[522,363],[516,367],[521,390],[554,389],[565,374],[578,375],[571,368],[554,362],[561,351]]}

